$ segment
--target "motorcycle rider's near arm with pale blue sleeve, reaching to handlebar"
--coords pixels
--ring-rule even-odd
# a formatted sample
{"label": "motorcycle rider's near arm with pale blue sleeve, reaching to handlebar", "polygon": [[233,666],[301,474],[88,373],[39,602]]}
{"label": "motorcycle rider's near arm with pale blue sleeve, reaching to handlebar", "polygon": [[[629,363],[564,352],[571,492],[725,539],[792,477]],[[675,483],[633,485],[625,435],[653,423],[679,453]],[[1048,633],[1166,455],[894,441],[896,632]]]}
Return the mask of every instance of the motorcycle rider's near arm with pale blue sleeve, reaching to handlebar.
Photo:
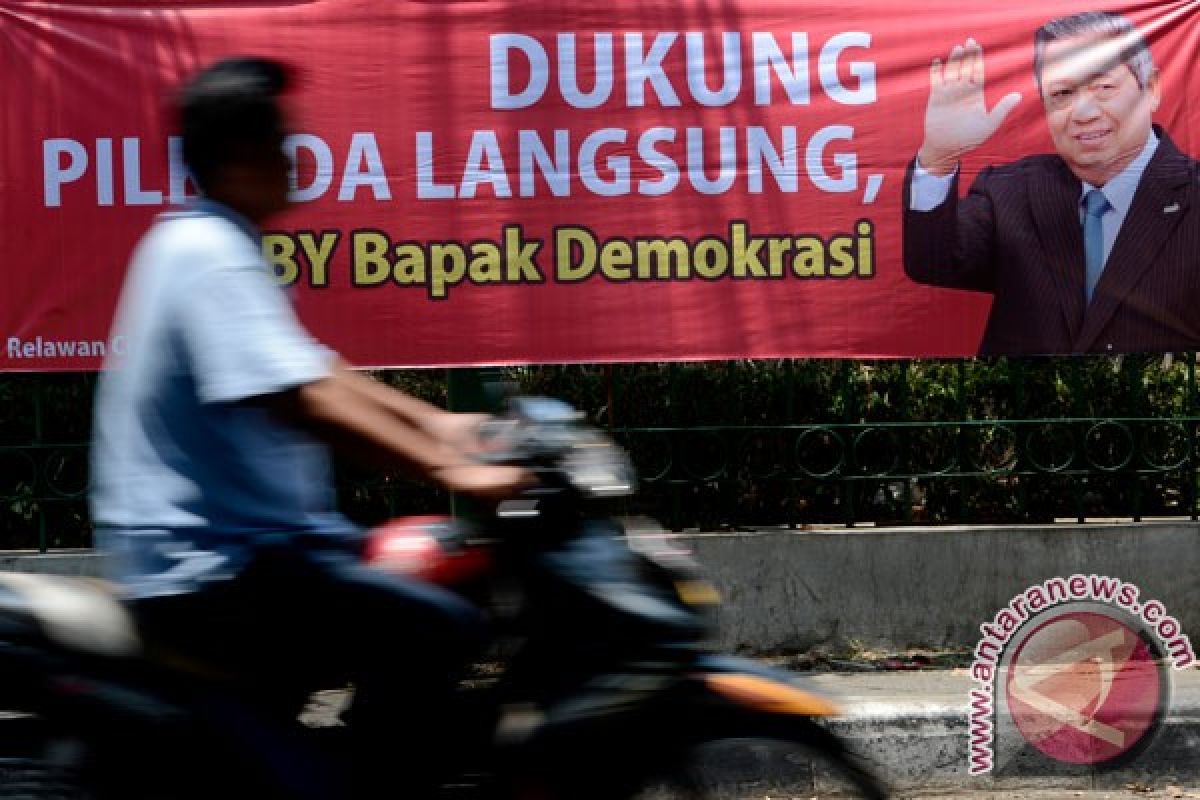
{"label": "motorcycle rider's near arm with pale blue sleeve, reaching to handlebar", "polygon": [[494,499],[526,481],[523,470],[476,463],[472,437],[436,422],[460,415],[342,366],[259,265],[198,266],[184,281],[175,313],[200,402],[265,407],[348,455],[452,492]]}

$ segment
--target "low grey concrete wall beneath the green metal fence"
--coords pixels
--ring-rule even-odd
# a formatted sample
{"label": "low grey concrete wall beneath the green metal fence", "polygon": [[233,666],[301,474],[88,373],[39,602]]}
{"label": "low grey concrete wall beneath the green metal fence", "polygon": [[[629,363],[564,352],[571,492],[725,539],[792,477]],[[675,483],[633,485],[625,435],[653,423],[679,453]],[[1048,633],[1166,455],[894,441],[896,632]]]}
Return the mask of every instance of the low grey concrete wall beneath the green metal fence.
{"label": "low grey concrete wall beneath the green metal fence", "polygon": [[[1200,637],[1200,525],[760,531],[685,535],[721,590],[727,649],[974,646],[979,625],[1027,587],[1121,578]],[[0,570],[97,575],[89,552],[0,554]],[[1196,639],[1200,648],[1200,638]]]}

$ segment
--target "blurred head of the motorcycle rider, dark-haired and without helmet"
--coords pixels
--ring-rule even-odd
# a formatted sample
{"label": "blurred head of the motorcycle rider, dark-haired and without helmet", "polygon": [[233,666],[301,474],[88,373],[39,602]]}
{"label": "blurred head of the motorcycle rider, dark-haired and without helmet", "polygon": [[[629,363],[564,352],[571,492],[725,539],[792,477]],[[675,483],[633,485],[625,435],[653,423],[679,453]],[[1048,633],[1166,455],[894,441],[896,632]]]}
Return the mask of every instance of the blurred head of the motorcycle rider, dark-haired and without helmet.
{"label": "blurred head of the motorcycle rider, dark-haired and without helmet", "polygon": [[280,95],[290,70],[259,58],[218,61],[179,94],[184,162],[199,190],[252,222],[288,203],[290,163]]}

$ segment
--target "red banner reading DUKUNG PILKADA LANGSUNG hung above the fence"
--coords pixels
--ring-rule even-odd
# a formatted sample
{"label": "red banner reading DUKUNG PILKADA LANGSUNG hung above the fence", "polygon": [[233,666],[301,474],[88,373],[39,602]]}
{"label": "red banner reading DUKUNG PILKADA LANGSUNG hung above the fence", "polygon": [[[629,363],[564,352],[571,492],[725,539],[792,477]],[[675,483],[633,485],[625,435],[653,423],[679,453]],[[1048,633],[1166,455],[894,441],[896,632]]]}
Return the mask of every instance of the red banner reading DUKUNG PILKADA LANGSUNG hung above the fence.
{"label": "red banner reading DUKUNG PILKADA LANGSUNG hung above the fence", "polygon": [[[1110,38],[1068,30],[1036,76],[1097,10],[1150,71],[1060,64]],[[194,192],[169,94],[232,54],[300,71],[263,246],[359,365],[1200,349],[1196,10],[0,0],[0,369],[121,347],[131,249]],[[932,210],[918,150],[958,170]]]}

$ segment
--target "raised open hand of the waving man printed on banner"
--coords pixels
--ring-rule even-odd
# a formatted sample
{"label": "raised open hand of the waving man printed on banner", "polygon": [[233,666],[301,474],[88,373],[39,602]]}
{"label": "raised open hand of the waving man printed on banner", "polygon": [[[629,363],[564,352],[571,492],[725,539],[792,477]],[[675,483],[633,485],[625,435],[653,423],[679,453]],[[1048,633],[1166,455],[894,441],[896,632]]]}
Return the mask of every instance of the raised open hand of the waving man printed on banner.
{"label": "raised open hand of the waving man printed on banner", "polygon": [[1014,91],[988,110],[983,48],[973,38],[965,46],[955,46],[944,65],[934,59],[929,68],[925,142],[917,154],[922,168],[935,175],[954,172],[962,154],[990,139],[1019,102],[1021,95]]}

